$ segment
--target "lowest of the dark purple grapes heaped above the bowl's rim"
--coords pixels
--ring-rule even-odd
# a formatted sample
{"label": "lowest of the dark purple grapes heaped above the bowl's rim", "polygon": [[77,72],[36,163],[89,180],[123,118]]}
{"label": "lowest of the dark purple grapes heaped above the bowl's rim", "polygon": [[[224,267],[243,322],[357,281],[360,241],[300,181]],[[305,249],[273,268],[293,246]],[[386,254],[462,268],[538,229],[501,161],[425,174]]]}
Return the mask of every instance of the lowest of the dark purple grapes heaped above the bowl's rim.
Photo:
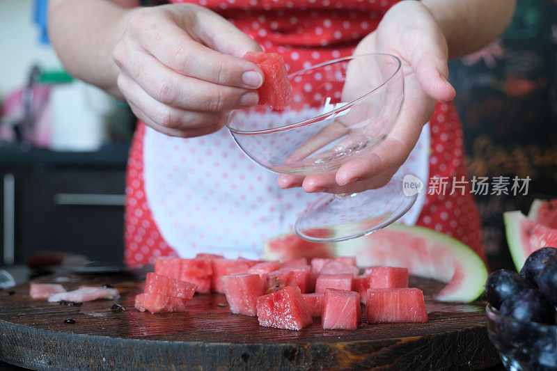
{"label": "lowest of the dark purple grapes heaped above the bowl's rim", "polygon": [[501,315],[524,322],[554,323],[551,306],[538,290],[530,289],[510,294],[501,303]]}

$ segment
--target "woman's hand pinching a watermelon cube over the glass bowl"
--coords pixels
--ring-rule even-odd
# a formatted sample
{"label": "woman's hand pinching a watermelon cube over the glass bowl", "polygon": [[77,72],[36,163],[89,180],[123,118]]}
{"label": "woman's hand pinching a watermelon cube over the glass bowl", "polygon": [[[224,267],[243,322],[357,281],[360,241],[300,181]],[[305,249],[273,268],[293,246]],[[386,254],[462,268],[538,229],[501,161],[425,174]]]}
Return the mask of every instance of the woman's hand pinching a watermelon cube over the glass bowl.
{"label": "woman's hand pinching a watermelon cube over the glass bowl", "polygon": [[255,106],[264,75],[242,56],[257,42],[210,10],[132,10],[113,49],[118,88],[139,120],[171,136],[216,132],[232,109]]}

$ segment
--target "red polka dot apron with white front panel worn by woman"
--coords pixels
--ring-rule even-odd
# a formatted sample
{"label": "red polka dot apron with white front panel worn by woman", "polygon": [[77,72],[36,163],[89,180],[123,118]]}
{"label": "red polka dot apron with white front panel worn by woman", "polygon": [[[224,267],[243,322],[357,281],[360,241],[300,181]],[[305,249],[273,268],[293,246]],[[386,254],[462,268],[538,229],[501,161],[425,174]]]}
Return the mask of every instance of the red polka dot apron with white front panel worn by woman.
{"label": "red polka dot apron with white front panel worn by woman", "polygon": [[[175,1],[180,2],[180,1]],[[192,1],[187,1],[192,2]],[[285,58],[290,72],[348,56],[377,27],[393,0],[198,0]],[[311,89],[311,81],[308,81]],[[466,176],[460,120],[453,104],[438,104],[398,175]],[[467,186],[466,186],[467,187]],[[228,129],[180,139],[139,123],[127,169],[125,262],[199,252],[260,258],[262,242],[291,232],[319,194],[280,189],[276,174],[246,157]],[[423,191],[402,218],[460,239],[483,256],[473,198]]]}

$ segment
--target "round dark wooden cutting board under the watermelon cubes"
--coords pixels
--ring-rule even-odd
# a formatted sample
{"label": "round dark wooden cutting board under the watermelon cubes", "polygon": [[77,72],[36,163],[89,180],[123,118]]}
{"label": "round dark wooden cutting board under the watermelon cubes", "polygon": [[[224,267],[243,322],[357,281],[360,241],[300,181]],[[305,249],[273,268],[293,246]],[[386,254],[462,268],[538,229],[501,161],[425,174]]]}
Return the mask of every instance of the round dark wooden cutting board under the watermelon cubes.
{"label": "round dark wooden cutting board under the watermelon cubes", "polygon": [[[427,324],[368,325],[362,310],[356,331],[323,330],[319,319],[290,331],[231,314],[219,294],[196,295],[188,313],[140,313],[133,308],[142,291],[136,274],[63,277],[68,290],[111,284],[121,297],[61,306],[31,299],[29,283],[0,292],[1,361],[36,370],[469,370],[499,362],[487,338],[485,303],[437,303],[430,295],[441,285],[434,281],[411,278],[426,294]],[[113,303],[125,310],[111,309]]]}

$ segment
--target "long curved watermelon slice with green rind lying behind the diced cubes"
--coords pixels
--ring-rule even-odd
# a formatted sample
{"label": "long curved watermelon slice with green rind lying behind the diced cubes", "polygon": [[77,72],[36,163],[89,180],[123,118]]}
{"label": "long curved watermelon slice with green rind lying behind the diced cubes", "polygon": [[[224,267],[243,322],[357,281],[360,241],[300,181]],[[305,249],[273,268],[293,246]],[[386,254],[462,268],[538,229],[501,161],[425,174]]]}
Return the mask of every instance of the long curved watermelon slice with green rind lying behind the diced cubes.
{"label": "long curved watermelon slice with green rind lying behind the diced cubes", "polygon": [[[287,240],[285,236],[280,241]],[[428,228],[392,224],[382,230],[345,242],[322,244],[320,252],[356,256],[361,267],[384,265],[406,267],[409,274],[448,283],[440,301],[473,301],[483,292],[487,269],[483,260],[462,242]],[[272,250],[269,246],[273,246]],[[281,253],[281,246],[284,251]],[[274,259],[297,258],[296,250],[274,240],[264,245]],[[306,255],[308,256],[308,255]]]}

